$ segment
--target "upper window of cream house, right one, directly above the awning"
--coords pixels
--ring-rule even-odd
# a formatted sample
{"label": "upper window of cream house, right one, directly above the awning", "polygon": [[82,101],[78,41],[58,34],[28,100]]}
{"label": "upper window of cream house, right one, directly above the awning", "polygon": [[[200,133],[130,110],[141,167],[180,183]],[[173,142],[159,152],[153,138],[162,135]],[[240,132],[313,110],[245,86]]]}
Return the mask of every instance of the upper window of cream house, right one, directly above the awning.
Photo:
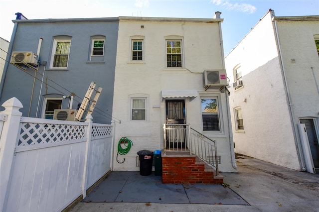
{"label": "upper window of cream house, right one, directly above the awning", "polygon": [[181,40],[166,40],[166,66],[182,67]]}

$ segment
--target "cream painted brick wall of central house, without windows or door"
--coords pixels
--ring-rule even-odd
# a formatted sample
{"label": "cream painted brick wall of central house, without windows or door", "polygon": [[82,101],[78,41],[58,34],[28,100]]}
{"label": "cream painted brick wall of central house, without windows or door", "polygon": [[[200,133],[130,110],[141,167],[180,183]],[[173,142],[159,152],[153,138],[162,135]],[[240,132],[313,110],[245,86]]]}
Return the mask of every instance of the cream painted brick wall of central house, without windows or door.
{"label": "cream painted brick wall of central house, without windows or door", "polygon": [[[144,28],[141,28],[144,25]],[[183,60],[185,69],[165,69],[165,36],[183,37]],[[131,63],[130,36],[145,36],[144,63]],[[163,148],[165,123],[165,101],[161,99],[162,90],[196,90],[208,93],[203,88],[202,73],[205,69],[222,69],[222,56],[219,42],[218,23],[205,22],[160,22],[160,21],[121,21],[117,48],[113,116],[121,119],[116,124],[114,157],[117,143],[122,136],[134,142],[131,151],[119,156],[125,163],[114,163],[115,170],[139,170],[136,167],[137,152],[142,149],[155,151]],[[220,94],[219,89],[209,89],[211,94]],[[129,95],[149,96],[147,121],[130,121]],[[218,152],[222,156],[221,171],[234,171],[230,162],[230,147],[227,129],[226,97],[220,96],[222,107],[222,129],[218,134]],[[201,130],[200,99],[185,100],[187,123]],[[153,107],[159,105],[160,107]],[[214,135],[211,135],[214,136]],[[116,161],[116,160],[115,160]]]}

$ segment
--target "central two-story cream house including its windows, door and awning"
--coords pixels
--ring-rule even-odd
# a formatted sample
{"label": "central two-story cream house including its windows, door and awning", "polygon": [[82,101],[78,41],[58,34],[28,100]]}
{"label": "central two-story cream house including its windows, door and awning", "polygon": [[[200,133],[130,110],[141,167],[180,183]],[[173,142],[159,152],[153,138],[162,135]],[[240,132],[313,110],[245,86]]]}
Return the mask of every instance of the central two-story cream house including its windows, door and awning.
{"label": "central two-story cream house including its windows, door and awning", "polygon": [[[219,70],[218,77],[227,85],[219,15],[216,12],[210,19],[119,17],[112,113],[117,119],[114,170],[139,170],[138,151],[164,148],[163,124],[185,123],[216,140],[220,171],[237,171],[228,92],[225,86],[204,88],[203,83],[204,70]],[[215,111],[201,109],[207,102],[215,104]],[[116,159],[121,137],[133,142],[128,154],[118,156],[119,162],[126,159],[124,163]]]}

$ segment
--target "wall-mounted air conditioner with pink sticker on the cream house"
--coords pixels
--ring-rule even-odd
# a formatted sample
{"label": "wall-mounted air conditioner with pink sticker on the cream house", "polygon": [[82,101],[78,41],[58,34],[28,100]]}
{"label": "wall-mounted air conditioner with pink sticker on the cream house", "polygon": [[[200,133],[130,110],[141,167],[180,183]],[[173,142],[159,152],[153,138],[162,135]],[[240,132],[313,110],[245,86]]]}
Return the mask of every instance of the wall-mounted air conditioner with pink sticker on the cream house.
{"label": "wall-mounted air conditioner with pink sticker on the cream house", "polygon": [[203,73],[204,87],[208,86],[226,86],[227,76],[226,70],[205,70]]}

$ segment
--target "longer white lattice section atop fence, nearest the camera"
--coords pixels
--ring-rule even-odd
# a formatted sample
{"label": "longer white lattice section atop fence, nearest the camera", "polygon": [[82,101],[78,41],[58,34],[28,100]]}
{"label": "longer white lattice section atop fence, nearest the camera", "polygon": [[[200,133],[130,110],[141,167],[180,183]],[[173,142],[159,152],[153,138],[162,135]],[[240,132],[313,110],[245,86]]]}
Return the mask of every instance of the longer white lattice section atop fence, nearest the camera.
{"label": "longer white lattice section atop fence, nearest the camera", "polygon": [[68,142],[86,137],[85,125],[21,123],[18,146]]}

